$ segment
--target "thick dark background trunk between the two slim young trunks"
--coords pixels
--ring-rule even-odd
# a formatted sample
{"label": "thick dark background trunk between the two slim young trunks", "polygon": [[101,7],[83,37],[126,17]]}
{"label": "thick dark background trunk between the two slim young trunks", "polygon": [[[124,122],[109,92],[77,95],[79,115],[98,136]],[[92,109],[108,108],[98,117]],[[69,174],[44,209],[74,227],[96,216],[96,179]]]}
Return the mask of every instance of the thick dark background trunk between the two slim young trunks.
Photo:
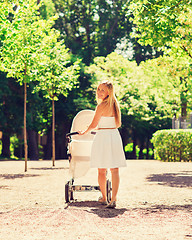
{"label": "thick dark background trunk between the two slim young trunks", "polygon": [[39,160],[38,138],[34,130],[28,130],[28,145],[30,160]]}

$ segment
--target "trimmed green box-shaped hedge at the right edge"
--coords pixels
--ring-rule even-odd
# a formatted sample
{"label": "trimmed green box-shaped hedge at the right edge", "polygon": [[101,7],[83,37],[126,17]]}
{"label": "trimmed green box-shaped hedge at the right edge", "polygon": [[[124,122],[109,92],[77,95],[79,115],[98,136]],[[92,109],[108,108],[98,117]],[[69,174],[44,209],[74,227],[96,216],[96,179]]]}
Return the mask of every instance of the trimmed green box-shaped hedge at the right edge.
{"label": "trimmed green box-shaped hedge at the right edge", "polygon": [[192,160],[192,129],[159,130],[153,134],[155,159],[169,162]]}

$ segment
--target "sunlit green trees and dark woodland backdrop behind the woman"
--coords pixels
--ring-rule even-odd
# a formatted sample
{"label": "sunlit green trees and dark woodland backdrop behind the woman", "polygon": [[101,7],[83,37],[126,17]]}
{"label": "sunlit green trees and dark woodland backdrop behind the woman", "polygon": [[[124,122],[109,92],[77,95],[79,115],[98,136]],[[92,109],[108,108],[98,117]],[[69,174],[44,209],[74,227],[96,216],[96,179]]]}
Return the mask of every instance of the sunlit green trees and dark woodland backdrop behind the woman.
{"label": "sunlit green trees and dark woodland backdrop behind the woman", "polygon": [[0,4],[2,159],[66,159],[65,135],[101,80],[115,85],[127,158],[153,158],[153,133],[187,119],[191,1]]}

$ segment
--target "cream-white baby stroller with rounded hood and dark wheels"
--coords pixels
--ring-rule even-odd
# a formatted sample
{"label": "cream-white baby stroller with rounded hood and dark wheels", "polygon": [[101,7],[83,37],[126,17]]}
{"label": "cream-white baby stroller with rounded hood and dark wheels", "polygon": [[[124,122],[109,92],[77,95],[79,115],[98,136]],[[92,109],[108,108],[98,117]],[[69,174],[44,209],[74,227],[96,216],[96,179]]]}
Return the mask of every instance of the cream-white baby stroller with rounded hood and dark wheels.
{"label": "cream-white baby stroller with rounded hood and dark wheels", "polygon": [[[74,200],[75,191],[100,191],[99,186],[74,185],[75,178],[84,176],[90,168],[91,147],[96,132],[89,132],[79,135],[78,130],[86,129],[94,116],[92,110],[80,111],[72,122],[70,133],[66,134],[68,142],[69,172],[71,179],[65,184],[65,201],[69,203]],[[111,182],[107,180],[106,192],[107,200],[111,200]]]}

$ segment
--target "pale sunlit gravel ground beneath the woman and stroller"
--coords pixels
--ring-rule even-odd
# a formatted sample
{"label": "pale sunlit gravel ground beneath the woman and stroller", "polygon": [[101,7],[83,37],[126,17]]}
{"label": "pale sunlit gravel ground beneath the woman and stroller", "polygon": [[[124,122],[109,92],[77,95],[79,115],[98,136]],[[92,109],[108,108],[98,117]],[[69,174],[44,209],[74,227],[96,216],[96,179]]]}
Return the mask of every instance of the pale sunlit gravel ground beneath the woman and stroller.
{"label": "pale sunlit gravel ground beneath the woman and stroller", "polygon": [[[128,160],[116,209],[99,192],[66,204],[69,163],[55,165],[0,161],[0,240],[192,240],[192,163]],[[97,185],[97,170],[75,183]]]}

